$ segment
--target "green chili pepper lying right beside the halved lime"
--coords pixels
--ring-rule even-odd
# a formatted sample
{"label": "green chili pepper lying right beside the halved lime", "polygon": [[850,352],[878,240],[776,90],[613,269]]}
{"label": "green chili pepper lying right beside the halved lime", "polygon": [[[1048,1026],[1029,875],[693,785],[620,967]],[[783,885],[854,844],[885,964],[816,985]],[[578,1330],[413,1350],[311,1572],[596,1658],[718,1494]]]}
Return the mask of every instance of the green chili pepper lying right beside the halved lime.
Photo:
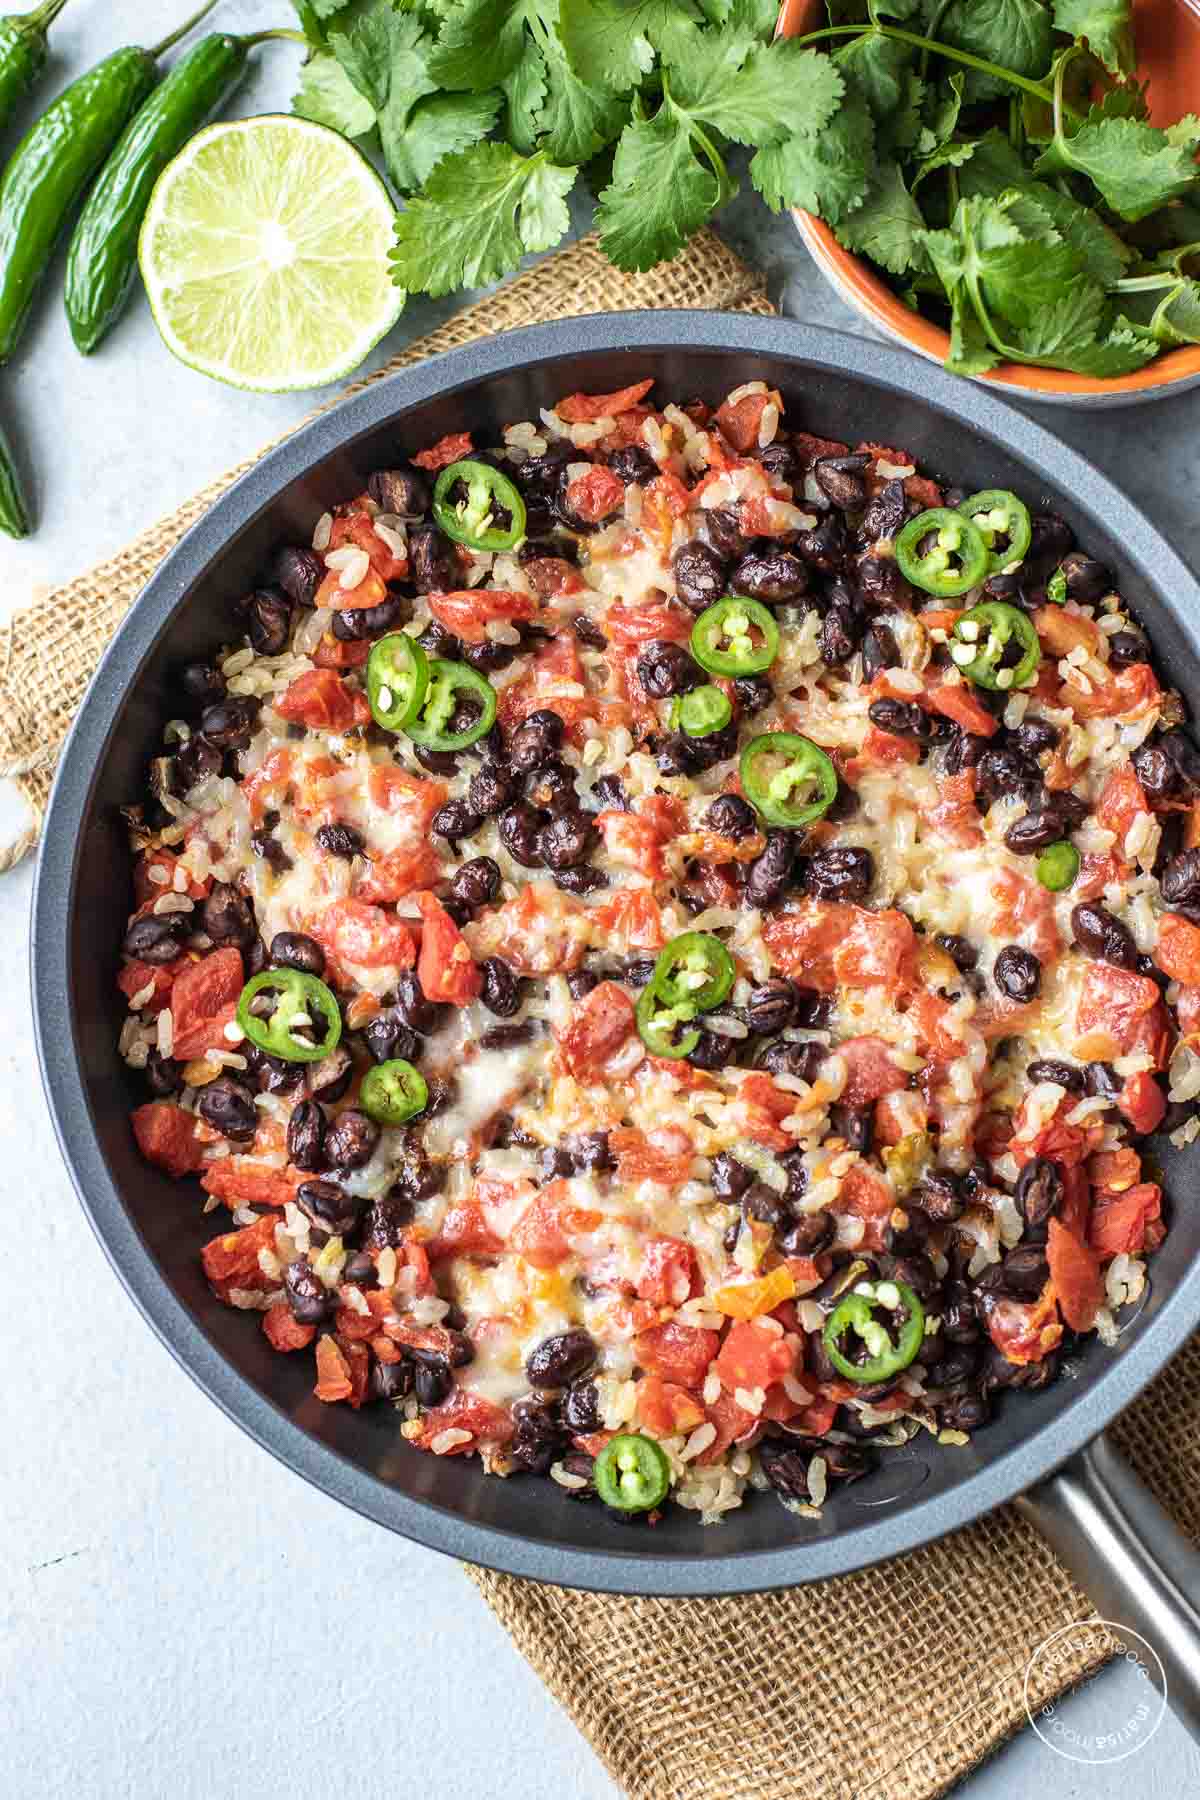
{"label": "green chili pepper lying right beside the halved lime", "polygon": [[67,256],[67,319],[85,356],[108,335],[130,297],[137,238],[155,182],[234,92],[254,45],[275,36],[261,31],[232,38],[218,31],[203,38],[124,128],[79,214]]}

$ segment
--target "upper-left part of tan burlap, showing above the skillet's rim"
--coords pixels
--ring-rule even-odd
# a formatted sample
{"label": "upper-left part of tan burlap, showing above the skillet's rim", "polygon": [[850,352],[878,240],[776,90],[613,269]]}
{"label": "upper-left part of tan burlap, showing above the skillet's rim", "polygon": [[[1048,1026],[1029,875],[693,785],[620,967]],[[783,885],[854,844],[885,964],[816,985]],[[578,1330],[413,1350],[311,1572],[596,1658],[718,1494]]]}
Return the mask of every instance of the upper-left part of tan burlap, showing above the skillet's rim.
{"label": "upper-left part of tan burlap, showing above the skillet's rim", "polygon": [[[644,306],[772,311],[761,279],[711,232],[698,232],[682,256],[644,275],[621,275],[601,256],[596,236],[588,236],[455,313],[428,337],[408,344],[383,369],[347,387],[345,394],[358,394],[396,369],[480,337],[551,319]],[[184,533],[288,436],[291,432],[219,475],[97,569],[25,607],[0,632],[0,779],[18,788],[31,814],[16,842],[0,846],[0,871],[14,868],[38,841],[59,747],[121,619]]]}

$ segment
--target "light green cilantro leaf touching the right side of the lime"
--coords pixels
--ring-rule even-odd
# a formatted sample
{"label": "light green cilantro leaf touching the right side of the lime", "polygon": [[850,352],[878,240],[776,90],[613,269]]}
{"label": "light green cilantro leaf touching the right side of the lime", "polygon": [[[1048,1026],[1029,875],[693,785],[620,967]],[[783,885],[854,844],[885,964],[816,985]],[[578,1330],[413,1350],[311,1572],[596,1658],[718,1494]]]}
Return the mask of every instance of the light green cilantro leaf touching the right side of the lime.
{"label": "light green cilantro leaf touching the right side of the lime", "polygon": [[444,157],[396,220],[392,281],[439,295],[511,274],[527,250],[549,250],[567,230],[576,175],[507,144]]}

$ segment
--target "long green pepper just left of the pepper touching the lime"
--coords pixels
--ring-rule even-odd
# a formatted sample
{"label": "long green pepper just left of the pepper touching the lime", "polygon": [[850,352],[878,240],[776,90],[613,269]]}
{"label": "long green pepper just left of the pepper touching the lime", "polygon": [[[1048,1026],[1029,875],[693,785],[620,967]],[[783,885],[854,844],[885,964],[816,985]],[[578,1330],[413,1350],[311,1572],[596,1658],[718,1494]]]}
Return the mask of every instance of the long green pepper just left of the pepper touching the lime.
{"label": "long green pepper just left of the pepper touching the lime", "polygon": [[157,59],[216,0],[153,50],[113,50],[59,94],[0,176],[0,362],[16,349],[54,245],[85,187],[158,79]]}

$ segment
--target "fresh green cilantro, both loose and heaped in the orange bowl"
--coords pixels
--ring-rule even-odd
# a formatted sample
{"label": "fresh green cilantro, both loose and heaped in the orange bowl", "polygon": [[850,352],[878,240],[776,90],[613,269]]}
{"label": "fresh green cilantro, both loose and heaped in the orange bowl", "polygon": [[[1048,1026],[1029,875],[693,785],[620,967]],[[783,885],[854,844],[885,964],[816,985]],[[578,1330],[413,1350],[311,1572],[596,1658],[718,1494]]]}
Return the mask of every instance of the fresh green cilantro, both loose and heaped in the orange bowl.
{"label": "fresh green cilantro, both loose and heaped in the orange bowl", "polygon": [[[297,0],[295,110],[378,142],[398,286],[497,281],[567,230],[675,256],[736,191],[804,207],[950,328],[948,367],[1115,376],[1200,342],[1200,119],[1157,130],[1132,0]],[[739,149],[734,149],[739,146]]]}

